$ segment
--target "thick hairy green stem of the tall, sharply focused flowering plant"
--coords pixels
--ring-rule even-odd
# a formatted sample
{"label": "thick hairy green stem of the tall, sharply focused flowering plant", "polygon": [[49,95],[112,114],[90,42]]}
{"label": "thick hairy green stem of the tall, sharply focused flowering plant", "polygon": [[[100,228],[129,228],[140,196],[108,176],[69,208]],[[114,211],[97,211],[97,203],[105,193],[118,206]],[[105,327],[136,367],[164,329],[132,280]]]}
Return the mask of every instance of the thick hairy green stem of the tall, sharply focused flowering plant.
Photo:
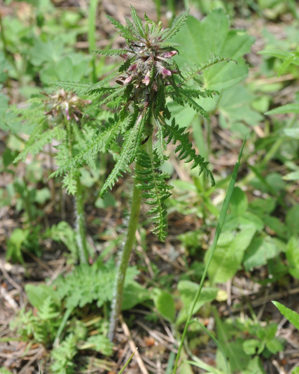
{"label": "thick hairy green stem of the tall, sharply focused flowering plant", "polygon": [[124,280],[126,277],[126,271],[129,263],[130,254],[135,242],[135,234],[138,226],[138,218],[141,205],[141,192],[136,188],[138,181],[134,180],[133,187],[133,197],[132,197],[132,206],[131,213],[129,218],[129,226],[127,232],[127,239],[124,244],[124,248],[120,253],[120,263],[118,264],[117,269],[117,279],[115,287],[114,300],[112,302],[112,311],[110,317],[110,326],[108,337],[110,340],[113,339],[116,323],[118,321],[121,303],[123,301],[123,289],[124,289]]}

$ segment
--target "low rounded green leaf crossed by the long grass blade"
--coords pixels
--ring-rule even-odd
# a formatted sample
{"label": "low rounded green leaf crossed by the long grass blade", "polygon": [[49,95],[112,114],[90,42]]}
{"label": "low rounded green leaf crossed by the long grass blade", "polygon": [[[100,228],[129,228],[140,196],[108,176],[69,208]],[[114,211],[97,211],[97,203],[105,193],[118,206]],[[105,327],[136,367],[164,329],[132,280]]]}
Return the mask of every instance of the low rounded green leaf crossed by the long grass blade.
{"label": "low rounded green leaf crossed by the long grass blade", "polygon": [[[179,325],[182,322],[186,321],[189,309],[193,303],[194,297],[198,290],[199,285],[191,281],[179,281],[178,290],[181,296],[184,308],[179,312],[176,324]],[[210,301],[213,301],[217,296],[218,288],[214,287],[205,287],[202,289],[199,300],[195,304],[193,309],[193,314],[197,313],[198,310],[205,304]]]}

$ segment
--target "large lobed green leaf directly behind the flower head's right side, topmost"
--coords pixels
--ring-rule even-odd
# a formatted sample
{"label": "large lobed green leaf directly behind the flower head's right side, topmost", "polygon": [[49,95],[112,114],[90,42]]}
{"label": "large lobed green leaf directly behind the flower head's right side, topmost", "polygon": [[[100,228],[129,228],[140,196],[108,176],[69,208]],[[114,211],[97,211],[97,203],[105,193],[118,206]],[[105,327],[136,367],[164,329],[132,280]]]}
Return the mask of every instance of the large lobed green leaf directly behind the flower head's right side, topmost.
{"label": "large lobed green leaf directly behind the flower head's right side, topmost", "polygon": [[229,30],[229,18],[222,9],[213,10],[202,21],[188,17],[184,28],[173,38],[181,44],[176,61],[180,66],[193,67],[206,61],[211,53],[235,62],[219,62],[203,74],[204,86],[211,89],[229,88],[247,76],[248,68],[242,59],[254,41],[243,31]]}

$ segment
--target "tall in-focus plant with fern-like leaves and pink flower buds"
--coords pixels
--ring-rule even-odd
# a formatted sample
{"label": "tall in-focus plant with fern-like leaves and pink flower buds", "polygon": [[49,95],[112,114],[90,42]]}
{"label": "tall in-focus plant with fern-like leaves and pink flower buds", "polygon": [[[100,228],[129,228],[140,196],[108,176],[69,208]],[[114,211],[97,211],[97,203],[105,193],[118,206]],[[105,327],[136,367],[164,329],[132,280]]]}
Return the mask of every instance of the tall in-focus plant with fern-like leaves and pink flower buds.
{"label": "tall in-focus plant with fern-like leaves and pink flower buds", "polygon": [[[135,162],[132,208],[127,239],[120,254],[115,298],[112,305],[111,338],[121,310],[124,278],[135,241],[141,197],[151,206],[148,214],[153,220],[152,232],[162,242],[166,238],[167,212],[164,202],[171,195],[172,186],[166,183],[169,174],[160,171],[159,168],[167,159],[164,155],[167,144],[178,143],[175,148],[178,159],[192,162],[192,168],[199,166],[199,174],[204,172],[206,177],[211,178],[212,185],[215,183],[211,171],[207,168],[208,162],[196,154],[188,137],[189,132],[186,132],[184,127],[179,127],[174,118],[170,122],[171,113],[167,108],[166,99],[170,97],[183,106],[188,104],[197,113],[209,119],[208,113],[194,99],[212,98],[213,94],[219,93],[201,87],[199,89],[190,87],[187,82],[194,79],[197,83],[195,78],[203,69],[226,60],[212,56],[200,67],[185,68],[183,74],[172,59],[178,53],[176,47],[179,45],[168,40],[185,23],[188,11],[179,16],[172,27],[167,29],[162,28],[161,22],[158,25],[155,24],[147,15],[144,15],[146,23],[143,25],[134,7],[131,7],[131,15],[133,22],[126,18],[127,26],[121,25],[120,22],[106,15],[115,28],[121,31],[126,39],[126,47],[94,51],[105,56],[118,55],[124,58],[124,62],[116,71],[94,84],[54,82],[55,86],[66,91],[73,90],[77,94],[99,96],[96,104],[91,105],[85,111],[85,115],[108,103],[110,106],[117,107],[118,111],[114,118],[110,118],[102,126],[92,141],[87,142],[75,157],[66,159],[64,165],[52,176],[78,168],[79,164],[88,162],[99,151],[108,151],[117,137],[121,135],[123,144],[120,155],[100,191],[100,196],[104,197],[108,188],[112,189],[118,177]],[[112,79],[115,79],[115,84],[111,87],[109,82]]]}

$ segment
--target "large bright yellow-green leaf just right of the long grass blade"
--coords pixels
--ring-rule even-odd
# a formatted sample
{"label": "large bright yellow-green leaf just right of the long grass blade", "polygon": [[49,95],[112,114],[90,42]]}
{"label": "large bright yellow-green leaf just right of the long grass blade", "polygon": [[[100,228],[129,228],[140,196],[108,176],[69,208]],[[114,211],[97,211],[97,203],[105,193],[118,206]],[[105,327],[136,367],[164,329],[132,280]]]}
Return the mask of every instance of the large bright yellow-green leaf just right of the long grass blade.
{"label": "large bright yellow-green leaf just right of the long grass blade", "polygon": [[[245,249],[250,245],[255,232],[255,227],[249,227],[235,235],[233,233],[220,235],[208,270],[212,283],[226,282],[235,275],[242,263]],[[205,261],[208,253],[209,251],[206,252]]]}

